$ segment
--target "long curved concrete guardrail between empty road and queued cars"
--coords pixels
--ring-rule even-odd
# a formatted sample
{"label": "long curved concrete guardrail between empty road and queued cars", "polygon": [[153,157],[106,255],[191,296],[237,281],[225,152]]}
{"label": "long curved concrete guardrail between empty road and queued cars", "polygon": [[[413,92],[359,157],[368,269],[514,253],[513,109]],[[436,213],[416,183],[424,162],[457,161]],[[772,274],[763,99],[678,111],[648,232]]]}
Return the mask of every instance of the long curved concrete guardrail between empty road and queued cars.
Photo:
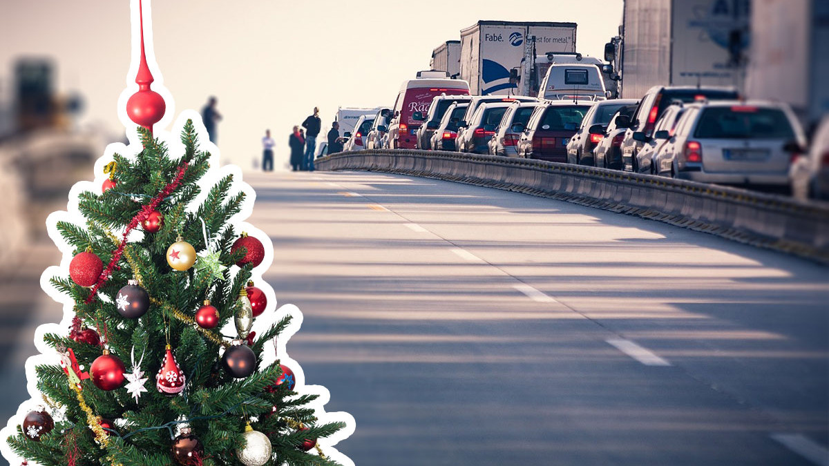
{"label": "long curved concrete guardrail between empty road and queued cars", "polygon": [[363,150],[321,170],[365,170],[495,187],[641,216],[829,264],[829,204],[666,177],[471,153]]}

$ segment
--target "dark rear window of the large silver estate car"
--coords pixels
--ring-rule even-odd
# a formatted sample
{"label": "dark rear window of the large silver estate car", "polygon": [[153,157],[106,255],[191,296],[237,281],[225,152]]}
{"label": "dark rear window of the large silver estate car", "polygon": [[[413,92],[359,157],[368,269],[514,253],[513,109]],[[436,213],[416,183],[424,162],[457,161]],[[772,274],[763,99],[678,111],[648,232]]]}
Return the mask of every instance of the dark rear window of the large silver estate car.
{"label": "dark rear window of the large silver estate car", "polygon": [[780,109],[710,107],[703,109],[694,136],[701,139],[793,139],[794,131]]}

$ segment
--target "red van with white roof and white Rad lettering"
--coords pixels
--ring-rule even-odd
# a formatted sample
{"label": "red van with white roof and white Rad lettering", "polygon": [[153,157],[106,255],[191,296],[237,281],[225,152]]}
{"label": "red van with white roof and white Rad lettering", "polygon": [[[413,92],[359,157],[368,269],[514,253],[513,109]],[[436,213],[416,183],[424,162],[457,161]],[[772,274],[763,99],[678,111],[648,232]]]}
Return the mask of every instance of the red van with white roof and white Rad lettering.
{"label": "red van with white roof and white Rad lettering", "polygon": [[422,121],[415,120],[414,112],[425,114],[437,95],[469,95],[469,83],[464,80],[425,78],[406,80],[400,86],[393,119],[389,124],[389,148],[413,149],[417,145],[417,130]]}

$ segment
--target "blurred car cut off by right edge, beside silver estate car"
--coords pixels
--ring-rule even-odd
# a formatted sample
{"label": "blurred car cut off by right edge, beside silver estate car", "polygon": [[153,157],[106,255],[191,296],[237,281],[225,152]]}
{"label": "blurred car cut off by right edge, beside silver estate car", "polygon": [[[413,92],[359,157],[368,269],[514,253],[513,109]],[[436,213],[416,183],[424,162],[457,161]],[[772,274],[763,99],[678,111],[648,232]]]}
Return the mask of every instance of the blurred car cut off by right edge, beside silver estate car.
{"label": "blurred car cut off by right edge, beside silver estate car", "polygon": [[818,124],[808,152],[795,159],[789,180],[794,197],[829,200],[829,116]]}

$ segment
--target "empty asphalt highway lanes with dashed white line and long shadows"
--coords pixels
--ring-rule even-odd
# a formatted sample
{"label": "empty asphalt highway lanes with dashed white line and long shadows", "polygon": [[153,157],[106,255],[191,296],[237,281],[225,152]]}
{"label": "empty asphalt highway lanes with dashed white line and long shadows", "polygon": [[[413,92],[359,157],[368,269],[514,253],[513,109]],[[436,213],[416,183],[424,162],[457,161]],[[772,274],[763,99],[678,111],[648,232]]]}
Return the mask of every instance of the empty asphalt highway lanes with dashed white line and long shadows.
{"label": "empty asphalt highway lanes with dashed white line and long shadows", "polygon": [[829,464],[825,267],[452,182],[246,181],[358,465]]}

